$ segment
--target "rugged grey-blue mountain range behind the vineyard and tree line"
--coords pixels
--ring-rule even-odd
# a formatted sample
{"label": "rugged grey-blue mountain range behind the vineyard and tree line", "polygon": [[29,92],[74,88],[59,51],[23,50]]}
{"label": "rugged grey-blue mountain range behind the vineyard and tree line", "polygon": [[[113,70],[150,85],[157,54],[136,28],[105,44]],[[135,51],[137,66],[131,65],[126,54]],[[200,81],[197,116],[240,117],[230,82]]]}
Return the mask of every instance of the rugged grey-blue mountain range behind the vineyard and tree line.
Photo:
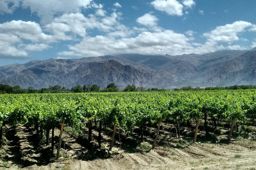
{"label": "rugged grey-blue mountain range behind the vineyard and tree line", "polygon": [[223,50],[204,55],[178,56],[122,54],[31,61],[0,67],[0,83],[22,88],[46,88],[99,84],[105,88],[114,82],[146,88],[181,86],[229,86],[256,83],[256,48]]}

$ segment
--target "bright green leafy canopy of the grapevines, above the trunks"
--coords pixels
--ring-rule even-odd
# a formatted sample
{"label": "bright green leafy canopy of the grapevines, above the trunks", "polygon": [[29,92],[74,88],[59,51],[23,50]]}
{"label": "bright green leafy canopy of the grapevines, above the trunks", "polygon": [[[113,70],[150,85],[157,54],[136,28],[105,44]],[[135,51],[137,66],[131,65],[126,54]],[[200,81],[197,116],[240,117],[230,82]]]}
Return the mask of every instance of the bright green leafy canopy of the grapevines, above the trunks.
{"label": "bright green leafy canopy of the grapevines, above the trunks", "polygon": [[[108,88],[116,86],[111,83]],[[255,90],[0,95],[0,126],[21,123],[47,130],[60,127],[65,120],[80,133],[85,122],[96,118],[132,131],[134,126],[157,123],[161,118],[190,120],[203,113],[230,123],[236,117],[242,124],[247,117],[255,118],[255,96]]]}

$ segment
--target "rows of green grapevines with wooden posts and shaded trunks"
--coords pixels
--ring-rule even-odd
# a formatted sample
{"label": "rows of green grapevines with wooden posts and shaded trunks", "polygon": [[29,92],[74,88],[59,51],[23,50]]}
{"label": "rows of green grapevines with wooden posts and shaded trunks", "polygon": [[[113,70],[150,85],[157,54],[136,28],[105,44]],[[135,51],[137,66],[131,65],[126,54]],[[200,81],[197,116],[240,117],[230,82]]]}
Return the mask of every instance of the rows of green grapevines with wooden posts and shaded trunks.
{"label": "rows of green grapevines with wooden posts and shaded trunks", "polygon": [[[38,144],[35,150],[47,158],[36,163],[46,164],[63,156],[63,133],[91,148],[97,157],[109,157],[114,147],[131,150],[127,146],[136,148],[143,141],[148,149],[183,147],[182,140],[169,145],[170,136],[190,143],[229,143],[238,135],[255,138],[255,119],[255,90],[0,95],[1,159],[14,160],[15,156],[3,154],[15,140],[12,131],[13,135],[19,131],[30,134],[30,141]],[[219,127],[227,129],[221,141]],[[54,138],[56,134],[58,138]],[[68,147],[66,141],[66,150]],[[20,156],[22,153],[15,159]],[[90,159],[85,154],[77,158]],[[29,158],[16,163],[23,167],[33,164]]]}

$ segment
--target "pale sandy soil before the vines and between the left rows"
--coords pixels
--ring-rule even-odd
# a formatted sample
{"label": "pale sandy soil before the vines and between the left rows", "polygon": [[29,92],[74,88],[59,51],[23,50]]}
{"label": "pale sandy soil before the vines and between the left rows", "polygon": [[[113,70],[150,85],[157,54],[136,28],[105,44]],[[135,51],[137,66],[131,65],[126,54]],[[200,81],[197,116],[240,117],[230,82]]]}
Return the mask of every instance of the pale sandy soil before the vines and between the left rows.
{"label": "pale sandy soil before the vines and between the left rows", "polygon": [[[58,130],[55,130],[55,133],[55,137],[57,137]],[[65,150],[61,149],[63,157],[49,164],[40,165],[36,162],[43,155],[35,151],[35,145],[25,139],[26,135],[29,135],[29,132],[23,126],[16,129],[14,139],[19,140],[19,148],[11,145],[13,141],[6,139],[7,143],[10,143],[10,151],[7,152],[7,156],[10,157],[10,167],[0,166],[0,169],[256,169],[256,141],[253,140],[232,141],[228,144],[197,143],[181,148],[160,146],[148,151],[129,150],[125,146],[123,149],[119,149],[118,143],[116,143],[111,156],[100,158],[95,155],[95,158],[88,160],[85,157],[81,158],[81,155],[94,157],[94,155],[90,155],[94,152],[87,150],[69,134],[65,134],[63,141],[65,141],[66,148]],[[103,141],[104,138],[108,138],[107,135],[103,135]],[[106,143],[102,143],[102,145],[106,145],[107,148],[108,142],[106,140]],[[21,154],[15,155],[15,152],[19,150],[23,151]],[[15,159],[12,162],[12,157],[20,157],[25,163],[29,157],[32,159],[30,163],[33,162],[34,165],[21,168],[19,164],[14,163]],[[60,164],[64,164],[65,167],[57,168]]]}

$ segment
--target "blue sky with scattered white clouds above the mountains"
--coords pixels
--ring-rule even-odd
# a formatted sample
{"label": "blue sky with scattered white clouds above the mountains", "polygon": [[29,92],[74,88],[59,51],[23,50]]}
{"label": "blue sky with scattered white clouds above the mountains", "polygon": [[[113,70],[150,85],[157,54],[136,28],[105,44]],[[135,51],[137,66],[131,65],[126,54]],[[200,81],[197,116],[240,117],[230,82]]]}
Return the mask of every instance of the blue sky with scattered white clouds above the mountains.
{"label": "blue sky with scattered white clouds above the mountains", "polygon": [[255,0],[0,0],[0,66],[256,47]]}

